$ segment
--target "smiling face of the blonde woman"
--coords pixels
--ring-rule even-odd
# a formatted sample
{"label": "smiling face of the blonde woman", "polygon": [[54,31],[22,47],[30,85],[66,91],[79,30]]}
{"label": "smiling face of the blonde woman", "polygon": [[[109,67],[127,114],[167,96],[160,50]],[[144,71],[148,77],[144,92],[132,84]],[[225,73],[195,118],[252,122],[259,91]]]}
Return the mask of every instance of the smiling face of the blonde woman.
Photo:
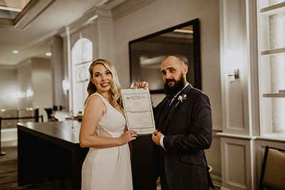
{"label": "smiling face of the blonde woman", "polygon": [[90,81],[96,86],[99,93],[105,93],[110,90],[110,81],[112,79],[112,73],[103,64],[95,65],[93,76],[90,77]]}

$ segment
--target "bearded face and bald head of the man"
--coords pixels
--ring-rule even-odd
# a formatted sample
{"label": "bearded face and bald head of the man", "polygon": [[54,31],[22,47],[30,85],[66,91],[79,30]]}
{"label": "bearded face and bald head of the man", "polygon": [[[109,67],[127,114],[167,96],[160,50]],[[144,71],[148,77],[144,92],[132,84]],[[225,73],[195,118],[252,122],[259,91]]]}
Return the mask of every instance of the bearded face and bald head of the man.
{"label": "bearded face and bald head of the man", "polygon": [[162,78],[165,81],[165,93],[171,91],[172,93],[178,93],[182,89],[181,86],[184,87],[186,83],[187,71],[187,65],[183,65],[183,63],[175,56],[166,58],[161,63]]}

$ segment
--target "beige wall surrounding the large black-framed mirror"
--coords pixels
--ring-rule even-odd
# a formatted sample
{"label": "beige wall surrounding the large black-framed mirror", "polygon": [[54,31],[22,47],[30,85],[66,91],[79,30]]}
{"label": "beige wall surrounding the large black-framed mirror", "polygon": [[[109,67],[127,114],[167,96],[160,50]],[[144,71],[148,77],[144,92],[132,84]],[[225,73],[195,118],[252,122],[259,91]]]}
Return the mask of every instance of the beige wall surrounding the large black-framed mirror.
{"label": "beige wall surrounding the large black-framed mirror", "polygon": [[[213,128],[222,130],[218,0],[157,0],[114,18],[115,67],[123,88],[129,88],[128,42],[197,18],[201,36],[202,90],[211,100]],[[214,165],[214,174],[221,176],[219,137],[214,137],[208,152],[211,154],[208,162]]]}

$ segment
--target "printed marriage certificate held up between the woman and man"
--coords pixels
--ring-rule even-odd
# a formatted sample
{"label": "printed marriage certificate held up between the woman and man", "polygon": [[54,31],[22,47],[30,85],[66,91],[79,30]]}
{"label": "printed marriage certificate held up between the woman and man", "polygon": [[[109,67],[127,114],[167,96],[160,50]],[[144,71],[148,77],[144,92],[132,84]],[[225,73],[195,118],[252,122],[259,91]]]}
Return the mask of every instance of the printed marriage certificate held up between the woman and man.
{"label": "printed marriage certificate held up between the woman and man", "polygon": [[135,130],[137,134],[152,134],[155,120],[150,91],[143,88],[123,89],[122,97],[128,129]]}

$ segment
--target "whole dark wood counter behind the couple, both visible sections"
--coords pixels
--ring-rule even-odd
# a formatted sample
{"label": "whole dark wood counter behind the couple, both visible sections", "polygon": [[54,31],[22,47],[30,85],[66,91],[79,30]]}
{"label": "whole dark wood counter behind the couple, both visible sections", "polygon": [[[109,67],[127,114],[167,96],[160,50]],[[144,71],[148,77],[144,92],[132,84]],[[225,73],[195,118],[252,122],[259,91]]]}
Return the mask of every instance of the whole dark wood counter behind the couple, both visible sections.
{"label": "whole dark wood counter behind the couple, both visible sections", "polygon": [[[72,189],[81,189],[81,168],[88,148],[79,146],[81,122],[18,123],[18,183],[46,179],[71,179]],[[133,189],[156,189],[151,135],[130,143]]]}

